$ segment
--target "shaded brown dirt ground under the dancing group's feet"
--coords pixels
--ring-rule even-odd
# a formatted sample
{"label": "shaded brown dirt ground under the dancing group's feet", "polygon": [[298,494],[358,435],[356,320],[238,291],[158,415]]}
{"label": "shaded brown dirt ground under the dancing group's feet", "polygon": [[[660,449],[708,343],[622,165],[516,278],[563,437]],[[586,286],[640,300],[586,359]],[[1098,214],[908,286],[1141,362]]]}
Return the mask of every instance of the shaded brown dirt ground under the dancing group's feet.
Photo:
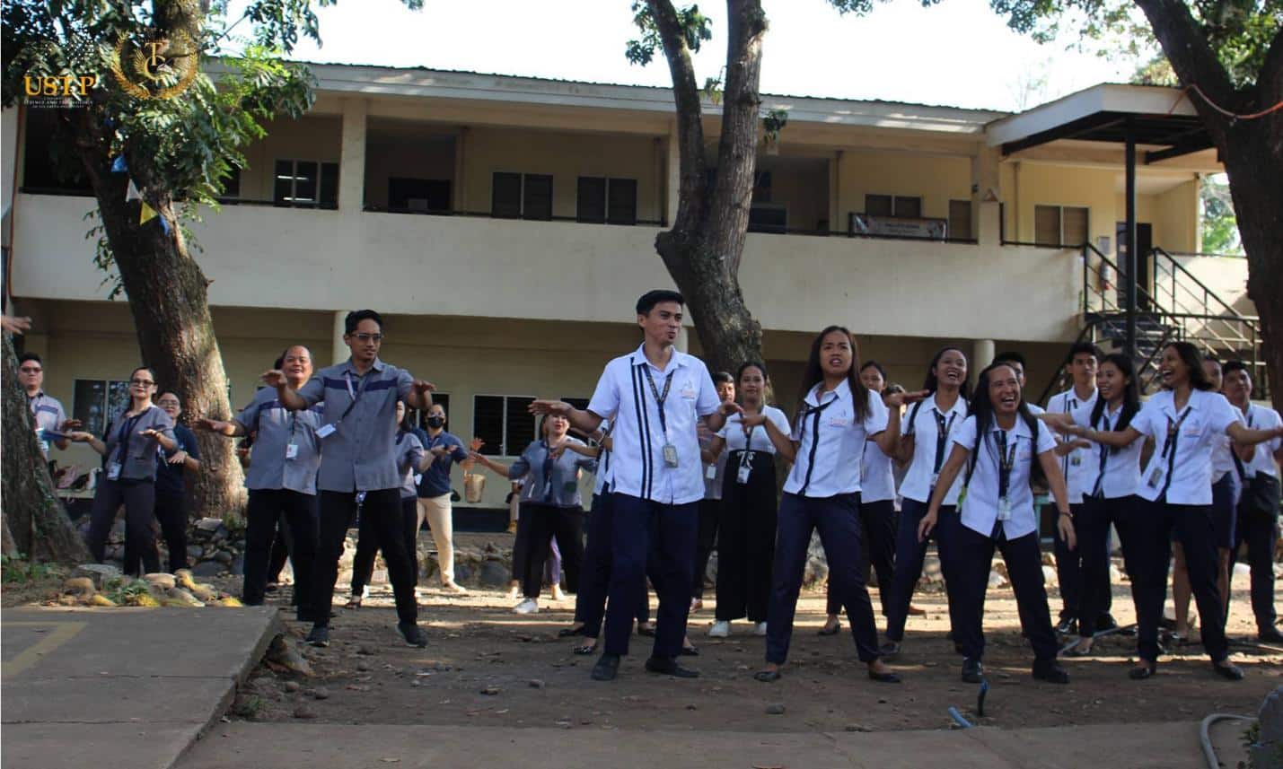
{"label": "shaded brown dirt ground under the dancing group's feet", "polygon": [[[589,678],[595,657],[571,654],[581,640],[557,637],[572,620],[572,596],[561,602],[545,596],[539,614],[522,616],[511,611],[514,601],[503,592],[446,596],[421,588],[420,619],[429,646],[417,650],[400,642],[391,591],[376,584],[361,610],[339,608],[345,593],[336,595],[332,645],[304,651],[316,678],[294,679],[260,666],[232,713],[269,722],[751,732],[948,728],[951,705],[974,723],[1002,728],[1255,714],[1265,695],[1283,683],[1283,649],[1248,642],[1255,627],[1247,586],[1246,575],[1236,578],[1229,625],[1234,659],[1246,670],[1246,681],[1215,677],[1194,645],[1162,657],[1157,677],[1133,682],[1126,678],[1133,640],[1110,637],[1097,642],[1094,657],[1065,660],[1073,678],[1069,686],[1030,678],[1032,656],[1020,637],[1011,591],[990,590],[985,668],[992,688],[980,718],[978,687],[961,682],[961,660],[946,640],[942,593],[915,597],[928,615],[910,618],[903,654],[893,664],[905,679],[898,686],[865,677],[845,629],[840,636],[816,636],[824,622],[822,592],[803,593],[792,659],[776,683],[752,678],[762,664],[763,640],[752,636],[747,623],[735,623],[730,638],[707,637],[711,600],[689,624],[701,654],[683,659],[701,672],[698,679],[645,673],[642,664],[650,640],[634,636],[620,677],[600,683]],[[1051,593],[1052,605],[1058,606],[1055,588]],[[876,601],[875,596],[875,606]],[[1126,584],[1115,586],[1114,613],[1120,622],[1133,619]],[[293,622],[289,627],[302,641],[307,628]],[[783,713],[777,713],[780,705]]]}

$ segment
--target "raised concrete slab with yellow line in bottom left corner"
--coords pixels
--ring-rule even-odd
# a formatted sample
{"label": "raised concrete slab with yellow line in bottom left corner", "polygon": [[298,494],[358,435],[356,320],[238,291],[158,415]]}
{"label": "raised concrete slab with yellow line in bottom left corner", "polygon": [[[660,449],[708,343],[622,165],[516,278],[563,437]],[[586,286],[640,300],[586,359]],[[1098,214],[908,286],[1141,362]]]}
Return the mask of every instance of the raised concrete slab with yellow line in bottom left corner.
{"label": "raised concrete slab with yellow line in bottom left corner", "polygon": [[0,766],[173,766],[262,659],[276,614],[6,609]]}

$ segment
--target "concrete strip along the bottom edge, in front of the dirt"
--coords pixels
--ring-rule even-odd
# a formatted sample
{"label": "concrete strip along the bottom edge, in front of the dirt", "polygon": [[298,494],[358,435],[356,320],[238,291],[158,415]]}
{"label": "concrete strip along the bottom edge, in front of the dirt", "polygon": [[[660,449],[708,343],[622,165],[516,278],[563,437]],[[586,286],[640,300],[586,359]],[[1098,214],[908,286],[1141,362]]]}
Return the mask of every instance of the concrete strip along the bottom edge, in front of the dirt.
{"label": "concrete strip along the bottom edge, in front of the dirt", "polygon": [[1198,724],[1110,724],[1010,732],[743,733],[241,722],[212,729],[178,763],[180,769],[1083,769],[1093,765],[1202,769]]}

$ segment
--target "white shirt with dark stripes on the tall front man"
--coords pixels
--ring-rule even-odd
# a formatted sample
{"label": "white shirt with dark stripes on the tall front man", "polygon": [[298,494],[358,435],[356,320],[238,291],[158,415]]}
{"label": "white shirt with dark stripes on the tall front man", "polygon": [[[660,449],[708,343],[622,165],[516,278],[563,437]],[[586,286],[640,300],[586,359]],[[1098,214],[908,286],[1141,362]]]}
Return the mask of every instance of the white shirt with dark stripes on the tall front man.
{"label": "white shirt with dark stripes on the tall front man", "polygon": [[[611,491],[665,505],[697,502],[704,497],[704,465],[695,424],[716,411],[721,400],[702,360],[674,350],[659,370],[647,361],[643,347],[606,364],[588,404],[589,411],[615,423]],[[663,395],[670,373],[661,420],[650,383]],[[677,467],[663,461],[665,445],[676,449]]]}

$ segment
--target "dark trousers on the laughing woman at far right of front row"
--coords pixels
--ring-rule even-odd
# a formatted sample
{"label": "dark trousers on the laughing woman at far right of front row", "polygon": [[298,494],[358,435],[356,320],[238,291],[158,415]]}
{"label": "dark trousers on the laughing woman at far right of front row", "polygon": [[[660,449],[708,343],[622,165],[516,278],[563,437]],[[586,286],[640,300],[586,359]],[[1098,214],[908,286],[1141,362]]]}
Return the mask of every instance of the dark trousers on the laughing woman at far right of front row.
{"label": "dark trousers on the laughing woman at far right of front row", "polygon": [[[1137,654],[1146,661],[1159,659],[1159,622],[1168,600],[1168,570],[1171,560],[1171,538],[1185,551],[1189,587],[1198,605],[1200,633],[1203,649],[1212,661],[1229,655],[1225,641],[1225,619],[1216,590],[1216,542],[1212,536],[1211,505],[1171,505],[1164,501],[1141,502],[1134,517],[1135,554],[1126,556],[1132,574],[1132,596],[1137,615]],[[1133,561],[1135,561],[1133,564]]]}

